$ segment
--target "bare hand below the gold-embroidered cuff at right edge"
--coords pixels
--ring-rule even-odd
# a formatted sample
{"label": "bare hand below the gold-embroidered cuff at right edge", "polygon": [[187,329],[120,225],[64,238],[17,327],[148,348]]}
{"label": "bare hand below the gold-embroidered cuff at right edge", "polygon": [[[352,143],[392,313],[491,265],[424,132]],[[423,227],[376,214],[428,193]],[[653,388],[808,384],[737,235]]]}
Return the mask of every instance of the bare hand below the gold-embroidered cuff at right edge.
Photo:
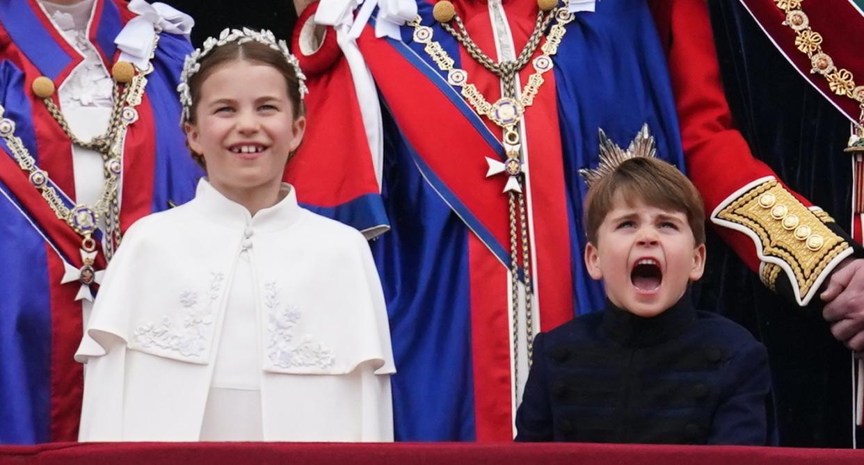
{"label": "bare hand below the gold-embroidered cuff at right edge", "polygon": [[864,259],[842,261],[819,298],[827,302],[822,316],[831,334],[849,349],[864,350]]}

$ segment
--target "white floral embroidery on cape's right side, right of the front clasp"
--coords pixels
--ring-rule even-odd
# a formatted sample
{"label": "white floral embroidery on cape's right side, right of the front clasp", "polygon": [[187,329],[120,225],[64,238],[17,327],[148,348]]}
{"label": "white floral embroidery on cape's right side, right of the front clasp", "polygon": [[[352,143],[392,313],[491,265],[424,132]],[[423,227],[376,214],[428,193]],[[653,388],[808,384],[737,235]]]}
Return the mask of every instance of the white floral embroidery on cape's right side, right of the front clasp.
{"label": "white floral embroidery on cape's right side, right of the front clasp", "polygon": [[294,329],[302,315],[295,305],[280,305],[275,282],[264,285],[264,306],[268,315],[267,355],[277,367],[329,368],[334,364],[333,350],[324,342],[314,342],[312,335],[304,335],[295,343]]}

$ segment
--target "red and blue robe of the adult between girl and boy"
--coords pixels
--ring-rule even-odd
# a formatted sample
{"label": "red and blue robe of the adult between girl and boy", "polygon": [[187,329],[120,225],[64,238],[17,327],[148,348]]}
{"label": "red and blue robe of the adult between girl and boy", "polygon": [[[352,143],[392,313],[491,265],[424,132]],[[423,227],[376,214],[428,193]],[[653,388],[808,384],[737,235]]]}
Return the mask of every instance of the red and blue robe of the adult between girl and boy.
{"label": "red and blue robe of the adult between girl and boy", "polygon": [[[433,39],[467,71],[468,82],[494,102],[499,79],[435,22],[433,4],[417,3],[422,24],[433,28]],[[494,58],[486,2],[454,5],[473,40]],[[504,0],[504,9],[518,53],[534,28],[537,2]],[[295,52],[313,13],[310,7],[297,22]],[[506,179],[485,177],[486,157],[504,159],[501,129],[448,85],[422,44],[412,41],[413,28],[401,28],[402,41],[376,38],[374,22],[373,14],[357,43],[380,98],[381,184],[333,29],[316,53],[300,57],[309,77],[308,129],[286,178],[314,211],[358,229],[390,227],[372,250],[397,363],[397,439],[509,441],[516,401]],[[576,13],[566,28],[553,72],[544,74],[524,114],[540,330],[604,305],[582,261],[586,187],[577,174],[596,167],[598,130],[626,147],[647,123],[659,156],[683,167],[664,49],[645,2],[602,0],[596,11]],[[521,83],[532,72],[526,66]]]}

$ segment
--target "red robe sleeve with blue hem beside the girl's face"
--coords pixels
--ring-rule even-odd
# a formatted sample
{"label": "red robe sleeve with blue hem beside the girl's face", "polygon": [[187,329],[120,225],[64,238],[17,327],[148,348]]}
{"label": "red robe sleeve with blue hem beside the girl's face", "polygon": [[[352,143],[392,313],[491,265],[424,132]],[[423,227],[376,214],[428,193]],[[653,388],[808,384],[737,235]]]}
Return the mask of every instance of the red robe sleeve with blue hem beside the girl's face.
{"label": "red robe sleeve with blue hem beside the girl's face", "polygon": [[304,207],[377,236],[387,219],[351,70],[333,28],[320,44],[309,41],[317,7],[309,5],[295,23],[292,50],[307,78],[307,124],[283,179]]}

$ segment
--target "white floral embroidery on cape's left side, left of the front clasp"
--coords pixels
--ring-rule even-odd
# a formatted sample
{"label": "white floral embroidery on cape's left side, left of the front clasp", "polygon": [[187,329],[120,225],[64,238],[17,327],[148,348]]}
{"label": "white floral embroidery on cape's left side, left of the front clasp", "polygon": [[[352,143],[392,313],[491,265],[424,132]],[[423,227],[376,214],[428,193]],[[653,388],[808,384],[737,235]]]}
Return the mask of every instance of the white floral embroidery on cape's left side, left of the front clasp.
{"label": "white floral embroidery on cape's left side, left of the front clasp", "polygon": [[162,317],[159,323],[138,326],[133,341],[147,349],[166,349],[185,357],[200,357],[210,340],[213,302],[219,298],[223,280],[222,273],[211,273],[210,287],[202,305],[199,305],[199,292],[181,292],[180,305],[184,309],[182,324],[175,324],[172,317]]}

